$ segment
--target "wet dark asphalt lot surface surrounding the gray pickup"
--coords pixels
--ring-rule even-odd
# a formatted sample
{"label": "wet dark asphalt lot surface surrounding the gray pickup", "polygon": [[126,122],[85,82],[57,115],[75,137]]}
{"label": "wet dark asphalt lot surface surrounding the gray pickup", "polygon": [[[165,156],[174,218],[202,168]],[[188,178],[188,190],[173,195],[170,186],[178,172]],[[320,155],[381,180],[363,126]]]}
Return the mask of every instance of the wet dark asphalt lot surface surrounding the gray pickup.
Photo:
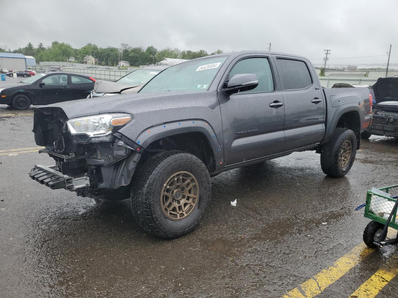
{"label": "wet dark asphalt lot surface surrounding the gray pickup", "polygon": [[[0,105],[0,153],[36,146],[33,116],[2,116],[32,112]],[[128,200],[96,204],[31,180],[47,155],[0,155],[0,297],[281,297],[362,242],[369,220],[355,207],[398,184],[397,153],[395,139],[372,136],[343,178],[326,177],[312,151],[224,172],[199,227],[174,240],[140,230]],[[349,297],[385,265],[398,267],[398,248],[317,297]],[[377,297],[397,288],[394,277]]]}

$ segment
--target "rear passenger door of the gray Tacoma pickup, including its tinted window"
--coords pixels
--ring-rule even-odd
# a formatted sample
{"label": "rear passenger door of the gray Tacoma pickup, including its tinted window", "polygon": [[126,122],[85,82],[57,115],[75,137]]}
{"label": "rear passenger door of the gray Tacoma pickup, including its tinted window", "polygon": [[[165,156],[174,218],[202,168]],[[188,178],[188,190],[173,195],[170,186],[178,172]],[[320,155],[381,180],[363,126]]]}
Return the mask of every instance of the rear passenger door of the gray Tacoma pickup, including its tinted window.
{"label": "rear passenger door of the gray Tacoma pickup, including its tinted window", "polygon": [[319,143],[326,109],[313,68],[297,58],[277,57],[276,64],[285,102],[285,151]]}

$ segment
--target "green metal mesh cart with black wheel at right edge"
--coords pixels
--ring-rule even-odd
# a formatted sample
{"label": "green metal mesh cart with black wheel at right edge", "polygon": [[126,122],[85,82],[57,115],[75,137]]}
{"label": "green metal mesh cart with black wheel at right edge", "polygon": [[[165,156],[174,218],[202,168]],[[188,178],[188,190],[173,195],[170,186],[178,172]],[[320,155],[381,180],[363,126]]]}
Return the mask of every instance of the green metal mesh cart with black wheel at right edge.
{"label": "green metal mesh cart with black wheel at right edge", "polygon": [[398,234],[394,239],[387,238],[388,228],[398,230],[397,217],[398,185],[373,188],[366,195],[364,216],[372,221],[363,232],[363,241],[371,248],[398,244]]}

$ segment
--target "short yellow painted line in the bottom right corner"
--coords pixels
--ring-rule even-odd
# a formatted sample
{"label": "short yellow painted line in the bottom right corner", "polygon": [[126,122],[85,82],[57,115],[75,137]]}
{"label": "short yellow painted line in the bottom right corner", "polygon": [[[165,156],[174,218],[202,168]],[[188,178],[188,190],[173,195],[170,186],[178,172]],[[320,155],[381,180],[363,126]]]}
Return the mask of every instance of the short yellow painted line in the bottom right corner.
{"label": "short yellow painted line in the bottom right corner", "polygon": [[387,261],[386,267],[390,269],[380,268],[365,283],[353,292],[350,298],[373,298],[386,284],[388,284],[397,274],[398,268],[393,261]]}

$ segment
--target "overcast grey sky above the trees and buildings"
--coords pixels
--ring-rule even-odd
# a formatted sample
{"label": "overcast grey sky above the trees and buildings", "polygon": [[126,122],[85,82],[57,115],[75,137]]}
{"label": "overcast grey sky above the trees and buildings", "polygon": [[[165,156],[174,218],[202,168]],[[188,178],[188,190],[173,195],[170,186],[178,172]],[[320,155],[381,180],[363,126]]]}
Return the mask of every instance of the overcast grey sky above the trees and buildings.
{"label": "overcast grey sky above the trees and buildings", "polygon": [[[154,45],[183,50],[267,50],[328,64],[398,64],[398,1],[0,0],[0,46],[52,41],[80,48]],[[395,44],[394,44],[395,43]],[[380,55],[380,56],[379,56]],[[367,58],[351,58],[377,56]]]}

